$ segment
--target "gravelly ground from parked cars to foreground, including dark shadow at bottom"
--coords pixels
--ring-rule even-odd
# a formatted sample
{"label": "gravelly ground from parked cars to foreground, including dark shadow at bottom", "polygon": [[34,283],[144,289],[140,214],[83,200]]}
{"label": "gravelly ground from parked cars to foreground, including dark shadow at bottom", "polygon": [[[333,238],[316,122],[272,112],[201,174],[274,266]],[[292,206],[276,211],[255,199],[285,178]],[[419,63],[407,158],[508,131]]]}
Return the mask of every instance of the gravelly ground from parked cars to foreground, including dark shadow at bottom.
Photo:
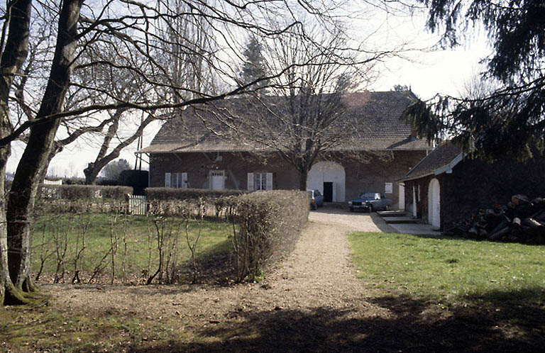
{"label": "gravelly ground from parked cars to foreground, including dark shadow at bottom", "polygon": [[167,342],[145,340],[137,352],[493,352],[502,347],[494,345],[497,332],[488,342],[483,330],[493,325],[485,323],[483,329],[486,318],[455,317],[410,298],[373,293],[350,264],[346,233],[353,230],[391,231],[374,213],[330,208],[311,212],[294,252],[259,284],[44,288],[72,315],[120,313],[187,332]]}

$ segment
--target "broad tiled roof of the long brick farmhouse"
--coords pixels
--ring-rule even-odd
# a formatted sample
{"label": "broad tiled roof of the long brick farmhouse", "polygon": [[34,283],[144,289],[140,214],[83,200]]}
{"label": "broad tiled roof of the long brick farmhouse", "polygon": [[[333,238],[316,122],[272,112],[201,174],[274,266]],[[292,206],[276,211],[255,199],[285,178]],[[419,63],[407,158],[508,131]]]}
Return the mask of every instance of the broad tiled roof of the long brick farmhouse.
{"label": "broad tiled roof of the long brick farmhouse", "polygon": [[[342,136],[328,150],[429,150],[424,140],[411,137],[412,129],[400,117],[414,100],[409,91],[359,92],[343,97],[345,111],[327,134]],[[233,139],[233,128],[260,125],[260,133],[285,137],[280,119],[283,108],[280,97],[262,99],[265,105],[251,103],[248,98],[224,99],[192,106],[170,119],[160,128],[150,146],[139,152],[211,152],[268,150],[255,140]],[[219,119],[218,119],[219,117]],[[263,129],[267,121],[268,130]],[[249,128],[248,128],[249,127]],[[257,128],[255,129],[257,131]],[[248,141],[248,142],[244,142]]]}

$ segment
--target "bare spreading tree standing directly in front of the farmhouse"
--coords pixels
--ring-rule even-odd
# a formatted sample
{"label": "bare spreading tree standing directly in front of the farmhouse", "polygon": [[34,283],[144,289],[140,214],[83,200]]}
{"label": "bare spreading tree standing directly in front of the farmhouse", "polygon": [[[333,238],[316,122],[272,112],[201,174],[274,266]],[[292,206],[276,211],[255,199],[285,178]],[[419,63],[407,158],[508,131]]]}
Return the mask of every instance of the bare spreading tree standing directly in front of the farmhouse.
{"label": "bare spreading tree standing directly in front of the farmhouse", "polygon": [[[263,86],[268,96],[249,96],[244,102],[212,108],[212,115],[221,121],[221,128],[212,128],[214,133],[253,145],[266,151],[265,155],[277,152],[299,172],[300,190],[307,189],[307,177],[317,158],[326,158],[342,147],[339,144],[346,140],[347,131],[363,133],[365,126],[347,114],[347,99],[351,91],[368,83],[374,63],[387,55],[362,55],[349,49],[340,30],[313,38],[314,42],[296,35],[274,43],[263,40],[265,69],[261,77],[281,67],[289,69]],[[255,50],[245,52],[255,56]],[[211,109],[204,109],[210,115]],[[206,121],[204,114],[202,119]]]}

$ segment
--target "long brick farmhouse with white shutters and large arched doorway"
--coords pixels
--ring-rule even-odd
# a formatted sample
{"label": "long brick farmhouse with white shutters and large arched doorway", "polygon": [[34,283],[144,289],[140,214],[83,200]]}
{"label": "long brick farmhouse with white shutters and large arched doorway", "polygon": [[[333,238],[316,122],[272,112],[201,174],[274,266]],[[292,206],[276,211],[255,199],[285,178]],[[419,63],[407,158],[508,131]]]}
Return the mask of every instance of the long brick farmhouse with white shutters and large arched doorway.
{"label": "long brick farmhouse with white shutters and large arched doorway", "polygon": [[[273,107],[280,101],[278,97],[265,99]],[[316,158],[307,188],[318,189],[326,201],[334,202],[355,198],[362,191],[382,191],[397,205],[395,180],[431,150],[400,121],[414,99],[410,91],[365,91],[343,96],[342,114],[328,130],[338,138]],[[185,109],[163,124],[151,144],[139,151],[150,156],[150,186],[299,189],[297,169],[282,156],[281,147],[232,133],[242,124],[254,124],[247,133],[277,136],[279,141],[290,138],[285,126],[278,123],[283,112],[249,104],[247,98]],[[277,115],[275,119],[272,114]]]}

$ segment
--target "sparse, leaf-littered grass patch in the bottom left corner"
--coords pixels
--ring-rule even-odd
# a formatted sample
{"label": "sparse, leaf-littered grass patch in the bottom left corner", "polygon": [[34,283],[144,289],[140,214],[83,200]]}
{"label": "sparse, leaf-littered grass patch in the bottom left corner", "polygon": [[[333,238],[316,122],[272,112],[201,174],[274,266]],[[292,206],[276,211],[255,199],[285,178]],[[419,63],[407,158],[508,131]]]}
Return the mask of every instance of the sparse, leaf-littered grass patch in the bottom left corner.
{"label": "sparse, leaf-littered grass patch in the bottom left corner", "polygon": [[0,349],[11,352],[130,352],[146,342],[185,337],[168,322],[123,313],[67,315],[53,308],[5,309],[0,315]]}

